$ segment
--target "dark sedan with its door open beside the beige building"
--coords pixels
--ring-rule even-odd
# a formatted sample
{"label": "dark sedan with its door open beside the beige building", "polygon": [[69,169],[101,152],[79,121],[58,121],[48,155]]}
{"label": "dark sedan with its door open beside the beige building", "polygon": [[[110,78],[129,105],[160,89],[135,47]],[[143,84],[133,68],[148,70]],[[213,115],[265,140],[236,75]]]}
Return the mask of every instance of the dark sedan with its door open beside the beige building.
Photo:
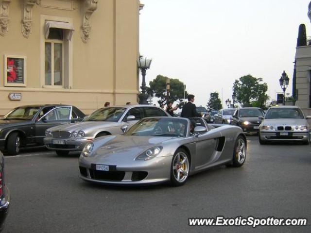
{"label": "dark sedan with its door open beside the beige building", "polygon": [[45,130],[81,121],[85,114],[71,105],[27,105],[13,109],[0,120],[0,150],[9,155],[21,147],[43,145]]}

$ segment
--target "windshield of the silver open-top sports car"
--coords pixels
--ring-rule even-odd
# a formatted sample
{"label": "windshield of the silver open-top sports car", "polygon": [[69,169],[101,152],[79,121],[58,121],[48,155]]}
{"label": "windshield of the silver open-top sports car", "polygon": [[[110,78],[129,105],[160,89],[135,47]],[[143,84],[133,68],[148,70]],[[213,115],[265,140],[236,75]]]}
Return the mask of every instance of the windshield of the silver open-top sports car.
{"label": "windshield of the silver open-top sports car", "polygon": [[179,118],[145,118],[137,122],[125,135],[185,137],[188,121]]}

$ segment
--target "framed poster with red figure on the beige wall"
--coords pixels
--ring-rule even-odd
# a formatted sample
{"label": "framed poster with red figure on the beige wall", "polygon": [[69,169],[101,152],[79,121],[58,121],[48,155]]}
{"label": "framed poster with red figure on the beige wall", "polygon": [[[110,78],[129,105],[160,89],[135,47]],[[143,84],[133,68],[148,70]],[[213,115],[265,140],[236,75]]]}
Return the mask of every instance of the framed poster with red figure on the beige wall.
{"label": "framed poster with red figure on the beige wall", "polygon": [[4,85],[26,86],[26,56],[4,55]]}

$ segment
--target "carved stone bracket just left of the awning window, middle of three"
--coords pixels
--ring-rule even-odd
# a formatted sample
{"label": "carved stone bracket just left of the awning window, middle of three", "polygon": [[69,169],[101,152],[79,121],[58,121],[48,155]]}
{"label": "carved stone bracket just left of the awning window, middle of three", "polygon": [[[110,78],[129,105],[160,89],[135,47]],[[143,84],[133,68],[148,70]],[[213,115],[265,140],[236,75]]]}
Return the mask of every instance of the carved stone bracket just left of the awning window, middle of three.
{"label": "carved stone bracket just left of the awning window, middle of three", "polygon": [[35,4],[38,4],[38,0],[24,0],[24,12],[22,20],[21,32],[25,38],[28,38],[32,32],[33,25],[33,7]]}

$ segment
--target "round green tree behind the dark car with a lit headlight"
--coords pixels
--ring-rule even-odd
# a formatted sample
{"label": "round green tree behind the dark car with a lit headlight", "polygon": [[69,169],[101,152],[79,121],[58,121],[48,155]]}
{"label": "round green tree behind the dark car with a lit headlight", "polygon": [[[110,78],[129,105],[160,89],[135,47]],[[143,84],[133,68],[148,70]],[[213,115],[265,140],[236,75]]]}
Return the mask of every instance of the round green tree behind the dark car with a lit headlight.
{"label": "round green tree behind the dark car with a lit headlight", "polygon": [[233,92],[236,93],[237,100],[243,107],[254,105],[264,108],[265,102],[269,99],[266,94],[267,83],[261,83],[262,78],[255,78],[252,75],[242,76],[233,83]]}

